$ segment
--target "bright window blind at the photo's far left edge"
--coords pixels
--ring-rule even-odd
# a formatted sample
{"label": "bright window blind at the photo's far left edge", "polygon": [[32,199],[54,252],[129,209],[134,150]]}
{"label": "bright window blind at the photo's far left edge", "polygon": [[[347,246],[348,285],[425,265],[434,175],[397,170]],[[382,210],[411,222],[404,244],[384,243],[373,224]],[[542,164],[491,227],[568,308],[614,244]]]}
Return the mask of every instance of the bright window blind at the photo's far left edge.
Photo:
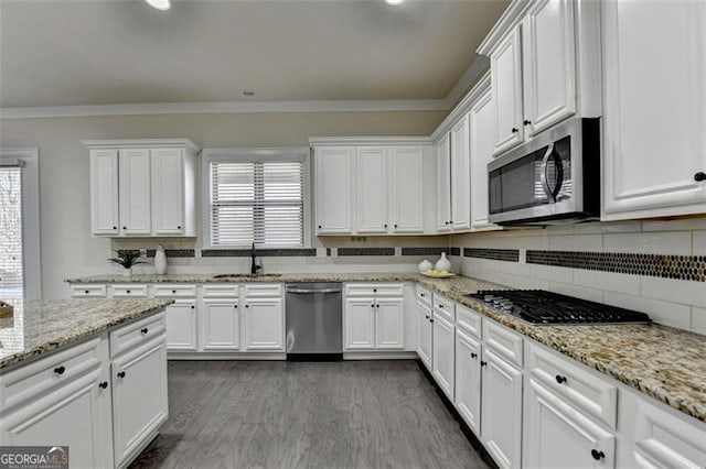
{"label": "bright window blind at the photo's far left edge", "polygon": [[0,166],[0,299],[21,298],[22,167]]}

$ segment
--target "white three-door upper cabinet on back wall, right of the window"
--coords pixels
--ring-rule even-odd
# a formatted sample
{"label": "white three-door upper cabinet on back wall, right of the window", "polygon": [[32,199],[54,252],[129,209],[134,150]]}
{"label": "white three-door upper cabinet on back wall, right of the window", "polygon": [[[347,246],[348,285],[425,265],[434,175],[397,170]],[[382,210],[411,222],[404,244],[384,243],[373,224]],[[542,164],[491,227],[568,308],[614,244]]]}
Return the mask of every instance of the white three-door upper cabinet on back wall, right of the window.
{"label": "white three-door upper cabinet on back wall, right of the window", "polygon": [[[426,138],[312,138],[315,232],[432,232],[425,214],[434,190],[431,141]],[[432,186],[434,186],[432,181]]]}

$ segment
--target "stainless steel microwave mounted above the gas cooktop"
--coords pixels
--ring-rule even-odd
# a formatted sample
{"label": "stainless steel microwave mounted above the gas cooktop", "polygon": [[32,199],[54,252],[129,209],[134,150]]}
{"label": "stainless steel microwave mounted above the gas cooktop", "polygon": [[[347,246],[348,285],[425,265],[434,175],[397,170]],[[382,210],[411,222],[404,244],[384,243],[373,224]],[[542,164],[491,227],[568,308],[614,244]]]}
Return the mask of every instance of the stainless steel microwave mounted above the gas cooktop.
{"label": "stainless steel microwave mounted above the gas cooktop", "polygon": [[574,118],[488,165],[490,221],[554,225],[600,216],[600,119]]}

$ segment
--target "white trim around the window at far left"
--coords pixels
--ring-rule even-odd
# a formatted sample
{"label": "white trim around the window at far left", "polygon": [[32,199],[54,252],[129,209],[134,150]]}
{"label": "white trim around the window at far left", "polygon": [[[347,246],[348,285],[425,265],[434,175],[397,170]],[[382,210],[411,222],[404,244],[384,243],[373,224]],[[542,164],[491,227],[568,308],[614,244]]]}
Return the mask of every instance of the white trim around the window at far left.
{"label": "white trim around the window at far left", "polygon": [[42,297],[42,265],[40,236],[40,174],[39,149],[0,149],[0,160],[21,160],[22,170],[22,260],[24,297]]}

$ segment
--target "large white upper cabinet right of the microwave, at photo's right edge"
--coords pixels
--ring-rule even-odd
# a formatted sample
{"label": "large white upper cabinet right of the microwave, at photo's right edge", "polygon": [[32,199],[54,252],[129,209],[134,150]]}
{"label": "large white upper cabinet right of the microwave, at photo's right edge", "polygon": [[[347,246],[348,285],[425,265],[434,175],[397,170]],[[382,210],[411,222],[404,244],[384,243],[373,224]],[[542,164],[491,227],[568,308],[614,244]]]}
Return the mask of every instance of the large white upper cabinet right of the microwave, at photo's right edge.
{"label": "large white upper cabinet right of the microwave, at photo's right edge", "polygon": [[602,219],[705,212],[706,3],[607,0],[601,14]]}

